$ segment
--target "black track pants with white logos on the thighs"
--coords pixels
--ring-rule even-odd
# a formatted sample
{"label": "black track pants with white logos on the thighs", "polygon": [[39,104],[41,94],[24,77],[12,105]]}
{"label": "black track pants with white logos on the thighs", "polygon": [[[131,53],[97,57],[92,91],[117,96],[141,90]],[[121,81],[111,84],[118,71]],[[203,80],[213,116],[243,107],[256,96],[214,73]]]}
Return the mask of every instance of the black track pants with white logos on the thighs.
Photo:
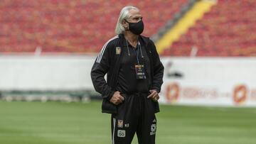
{"label": "black track pants with white logos on the thighs", "polygon": [[135,132],[139,144],[154,144],[156,116],[149,94],[122,94],[117,114],[112,114],[112,144],[130,144]]}

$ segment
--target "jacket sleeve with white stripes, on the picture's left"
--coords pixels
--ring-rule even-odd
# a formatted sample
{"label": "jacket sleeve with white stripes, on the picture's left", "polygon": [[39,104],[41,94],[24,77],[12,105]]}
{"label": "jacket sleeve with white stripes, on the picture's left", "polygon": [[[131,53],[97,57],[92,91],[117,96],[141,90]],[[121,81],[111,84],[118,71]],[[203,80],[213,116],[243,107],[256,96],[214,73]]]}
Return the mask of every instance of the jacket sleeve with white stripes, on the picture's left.
{"label": "jacket sleeve with white stripes, on the picture's left", "polygon": [[92,84],[95,87],[95,90],[102,94],[103,99],[111,99],[114,94],[114,91],[112,91],[111,87],[105,80],[105,74],[110,70],[111,48],[111,43],[103,46],[91,70]]}

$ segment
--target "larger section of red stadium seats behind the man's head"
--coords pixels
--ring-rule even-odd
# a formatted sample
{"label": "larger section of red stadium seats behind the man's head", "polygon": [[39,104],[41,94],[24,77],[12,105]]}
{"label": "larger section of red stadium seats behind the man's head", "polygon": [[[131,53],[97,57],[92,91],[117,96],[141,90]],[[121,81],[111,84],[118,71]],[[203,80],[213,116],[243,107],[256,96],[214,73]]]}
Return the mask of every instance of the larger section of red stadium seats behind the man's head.
{"label": "larger section of red stadium seats behind the man's head", "polygon": [[98,52],[123,6],[142,9],[144,35],[151,36],[187,2],[1,0],[0,52]]}

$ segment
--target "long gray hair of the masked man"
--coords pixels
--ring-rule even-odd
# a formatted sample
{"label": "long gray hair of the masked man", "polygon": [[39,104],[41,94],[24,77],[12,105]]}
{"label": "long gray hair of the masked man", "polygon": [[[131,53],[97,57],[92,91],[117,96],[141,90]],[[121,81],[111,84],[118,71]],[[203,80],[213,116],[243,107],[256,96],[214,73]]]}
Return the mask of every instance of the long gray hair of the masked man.
{"label": "long gray hair of the masked man", "polygon": [[121,11],[120,11],[120,14],[119,14],[119,18],[117,20],[117,26],[116,26],[116,29],[115,29],[115,33],[117,35],[119,35],[120,33],[123,33],[124,32],[124,27],[122,26],[122,21],[126,18],[129,18],[130,17],[130,13],[129,13],[129,10],[131,9],[135,9],[137,11],[139,11],[139,9],[135,6],[125,6]]}

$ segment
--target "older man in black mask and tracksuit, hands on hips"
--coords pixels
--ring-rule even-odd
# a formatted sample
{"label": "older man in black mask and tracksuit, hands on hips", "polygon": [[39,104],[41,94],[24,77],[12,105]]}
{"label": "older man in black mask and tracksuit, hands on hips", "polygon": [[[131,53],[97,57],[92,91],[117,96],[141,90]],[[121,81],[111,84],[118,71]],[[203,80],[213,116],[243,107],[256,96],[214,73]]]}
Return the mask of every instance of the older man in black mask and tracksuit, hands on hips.
{"label": "older man in black mask and tracksuit, hands on hips", "polygon": [[139,144],[155,143],[164,67],[154,43],[140,35],[143,30],[139,9],[125,6],[117,36],[103,45],[92,66],[92,83],[103,98],[102,112],[112,113],[113,144],[132,143],[135,133]]}

